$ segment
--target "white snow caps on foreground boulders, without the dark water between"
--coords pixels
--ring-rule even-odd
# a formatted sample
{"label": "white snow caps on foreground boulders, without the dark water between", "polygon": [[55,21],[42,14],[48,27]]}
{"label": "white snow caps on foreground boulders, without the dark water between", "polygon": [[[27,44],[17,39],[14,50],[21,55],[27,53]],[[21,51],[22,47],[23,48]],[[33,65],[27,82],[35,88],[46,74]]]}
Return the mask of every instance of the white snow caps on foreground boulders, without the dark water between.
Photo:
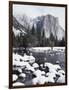
{"label": "white snow caps on foreground boulders, without the dark water between", "polygon": [[[58,49],[60,50],[60,49]],[[20,61],[20,59],[22,61]],[[32,64],[32,65],[31,65]],[[14,70],[18,70],[20,72],[19,77],[25,78],[26,74],[25,72],[23,73],[22,67],[25,67],[26,70],[30,70],[33,72],[33,74],[36,76],[36,78],[32,79],[33,85],[37,84],[45,84],[45,83],[55,83],[55,79],[57,75],[59,78],[57,79],[57,83],[64,83],[65,82],[65,72],[61,69],[59,64],[52,64],[49,62],[45,62],[44,64],[37,64],[35,63],[35,58],[33,57],[32,54],[30,56],[24,54],[24,56],[21,56],[19,54],[14,54],[13,53],[13,65],[19,66],[18,68],[15,68]],[[48,67],[49,72],[46,73],[45,71],[39,70],[39,67],[43,68]],[[37,70],[36,70],[37,68]],[[13,74],[13,81],[16,81],[18,79],[18,76]],[[17,85],[24,85],[24,83],[16,82],[13,84],[14,86]]]}

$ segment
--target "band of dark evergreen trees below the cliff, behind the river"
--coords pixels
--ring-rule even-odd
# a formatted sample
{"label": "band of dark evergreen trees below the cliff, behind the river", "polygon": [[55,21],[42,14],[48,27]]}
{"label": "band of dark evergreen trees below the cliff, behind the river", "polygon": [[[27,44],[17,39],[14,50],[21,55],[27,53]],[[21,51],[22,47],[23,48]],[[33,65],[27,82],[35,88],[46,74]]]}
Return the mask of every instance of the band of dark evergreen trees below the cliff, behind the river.
{"label": "band of dark evergreen trees below the cliff, behind the river", "polygon": [[52,33],[50,34],[49,38],[46,38],[44,30],[41,35],[41,30],[39,29],[39,27],[35,29],[33,25],[32,29],[28,30],[27,34],[25,34],[24,36],[21,33],[19,36],[15,37],[13,33],[13,46],[25,48],[65,46],[65,39],[62,38],[62,40],[58,40],[57,37],[55,39]]}

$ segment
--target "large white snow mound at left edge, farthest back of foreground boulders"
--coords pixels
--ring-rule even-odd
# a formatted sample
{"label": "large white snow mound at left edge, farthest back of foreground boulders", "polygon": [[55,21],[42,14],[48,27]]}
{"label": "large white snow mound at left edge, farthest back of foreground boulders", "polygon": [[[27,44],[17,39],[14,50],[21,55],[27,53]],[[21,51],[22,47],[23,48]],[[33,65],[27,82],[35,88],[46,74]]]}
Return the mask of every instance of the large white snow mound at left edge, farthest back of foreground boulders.
{"label": "large white snow mound at left edge, farthest back of foreground boulders", "polygon": [[[20,62],[20,60],[22,60],[22,62]],[[26,54],[24,54],[24,56],[21,56],[19,54],[14,54],[13,53],[13,65],[24,65],[24,64],[27,64],[28,63],[34,63],[35,62],[35,58],[31,55],[31,56],[28,56]]]}

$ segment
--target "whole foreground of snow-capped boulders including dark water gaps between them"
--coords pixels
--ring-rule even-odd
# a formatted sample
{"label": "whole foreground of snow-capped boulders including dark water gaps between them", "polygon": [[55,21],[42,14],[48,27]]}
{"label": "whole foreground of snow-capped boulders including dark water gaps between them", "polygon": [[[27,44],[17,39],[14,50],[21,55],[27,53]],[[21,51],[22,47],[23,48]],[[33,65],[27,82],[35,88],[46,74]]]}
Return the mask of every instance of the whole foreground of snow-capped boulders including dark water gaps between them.
{"label": "whole foreground of snow-capped boulders including dark water gaps between them", "polygon": [[[65,83],[65,72],[59,64],[45,62],[43,64],[44,67],[41,67],[42,69],[40,69],[38,62],[35,63],[34,61],[30,63],[28,60],[29,58],[25,58],[27,60],[24,61],[24,57],[27,55],[21,56],[13,53],[13,56],[13,86],[30,85],[30,81],[32,82],[31,85]],[[33,60],[33,58],[30,59]]]}

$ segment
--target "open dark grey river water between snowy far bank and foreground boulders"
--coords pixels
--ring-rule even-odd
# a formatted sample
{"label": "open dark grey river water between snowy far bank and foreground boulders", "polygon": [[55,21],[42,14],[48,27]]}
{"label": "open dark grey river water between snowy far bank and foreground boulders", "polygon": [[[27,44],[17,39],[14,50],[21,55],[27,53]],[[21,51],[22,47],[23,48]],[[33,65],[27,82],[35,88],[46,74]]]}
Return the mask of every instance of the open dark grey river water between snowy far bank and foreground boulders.
{"label": "open dark grey river water between snowy far bank and foreground boulders", "polygon": [[[33,53],[33,56],[36,58],[36,62],[39,64],[44,62],[50,62],[56,64],[56,61],[59,61],[59,65],[63,70],[65,70],[65,53],[64,52],[51,52],[51,53]],[[46,61],[44,60],[46,58]]]}

